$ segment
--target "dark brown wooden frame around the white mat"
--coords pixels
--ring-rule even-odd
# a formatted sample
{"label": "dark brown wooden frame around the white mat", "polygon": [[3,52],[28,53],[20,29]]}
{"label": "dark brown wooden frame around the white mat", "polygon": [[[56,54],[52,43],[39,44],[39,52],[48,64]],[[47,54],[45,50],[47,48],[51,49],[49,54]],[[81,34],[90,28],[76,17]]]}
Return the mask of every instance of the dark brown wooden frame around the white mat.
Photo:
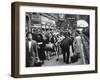
{"label": "dark brown wooden frame around the white mat", "polygon": [[[86,9],[95,11],[95,70],[86,71],[72,71],[72,72],[54,72],[54,73],[40,73],[40,74],[20,74],[20,6],[39,6],[39,7],[55,7],[55,8],[73,8]],[[97,7],[96,6],[81,6],[81,5],[62,5],[62,4],[44,4],[44,3],[29,3],[29,2],[13,2],[11,4],[11,76],[15,78],[25,77],[41,77],[41,76],[58,76],[58,75],[72,75],[72,74],[87,74],[97,73]],[[34,68],[34,67],[33,67]]]}

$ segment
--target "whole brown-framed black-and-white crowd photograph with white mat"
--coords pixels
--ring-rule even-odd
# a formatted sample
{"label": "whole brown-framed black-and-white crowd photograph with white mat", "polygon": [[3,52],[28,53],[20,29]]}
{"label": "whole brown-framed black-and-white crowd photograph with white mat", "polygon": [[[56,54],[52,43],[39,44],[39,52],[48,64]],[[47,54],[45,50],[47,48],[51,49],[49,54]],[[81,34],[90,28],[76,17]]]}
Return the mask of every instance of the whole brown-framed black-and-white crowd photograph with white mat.
{"label": "whole brown-framed black-and-white crowd photograph with white mat", "polygon": [[97,7],[12,3],[12,77],[97,73]]}

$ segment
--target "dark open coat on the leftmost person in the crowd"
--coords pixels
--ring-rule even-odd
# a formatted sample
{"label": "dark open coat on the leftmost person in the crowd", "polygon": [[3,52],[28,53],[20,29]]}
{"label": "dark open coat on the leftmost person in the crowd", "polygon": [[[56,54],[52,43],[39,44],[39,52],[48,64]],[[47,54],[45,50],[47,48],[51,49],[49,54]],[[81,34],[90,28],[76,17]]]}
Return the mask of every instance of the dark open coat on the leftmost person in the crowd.
{"label": "dark open coat on the leftmost person in the crowd", "polygon": [[36,55],[36,42],[26,40],[26,67],[33,67]]}

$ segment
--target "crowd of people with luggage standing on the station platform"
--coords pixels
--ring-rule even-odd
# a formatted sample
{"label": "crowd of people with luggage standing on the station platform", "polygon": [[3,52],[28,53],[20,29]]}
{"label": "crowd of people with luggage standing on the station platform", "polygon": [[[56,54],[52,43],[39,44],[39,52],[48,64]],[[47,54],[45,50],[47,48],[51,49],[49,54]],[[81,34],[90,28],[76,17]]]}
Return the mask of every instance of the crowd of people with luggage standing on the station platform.
{"label": "crowd of people with luggage standing on the station platform", "polygon": [[63,55],[63,62],[70,63],[70,48],[78,60],[81,54],[81,32],[78,30],[40,30],[35,29],[26,33],[26,67],[42,66],[45,60],[52,56],[59,61]]}

